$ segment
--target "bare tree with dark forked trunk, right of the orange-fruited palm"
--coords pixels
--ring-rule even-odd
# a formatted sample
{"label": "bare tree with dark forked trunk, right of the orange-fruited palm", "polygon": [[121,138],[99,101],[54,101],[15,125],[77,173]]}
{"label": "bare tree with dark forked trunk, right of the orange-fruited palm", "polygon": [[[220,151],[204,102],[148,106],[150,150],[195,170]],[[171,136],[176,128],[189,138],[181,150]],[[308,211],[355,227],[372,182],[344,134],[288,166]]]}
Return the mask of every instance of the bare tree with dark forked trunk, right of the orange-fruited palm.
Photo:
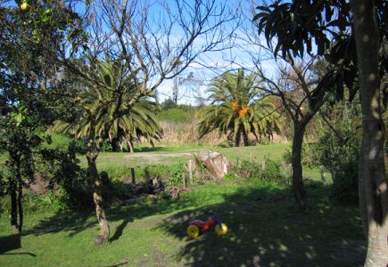
{"label": "bare tree with dark forked trunk, right of the orange-fruited palm", "polygon": [[[255,14],[254,4],[247,12],[247,20],[252,21]],[[257,22],[242,24],[239,35],[239,47],[249,59],[248,66],[259,74],[263,81],[262,90],[277,96],[283,110],[293,123],[293,148],[291,163],[293,166],[293,191],[297,205],[308,211],[306,194],[302,181],[301,148],[307,125],[327,100],[321,92],[322,85],[333,77],[332,70],[318,57],[305,56],[296,61],[275,58],[275,45],[258,33]],[[247,65],[246,61],[243,62]],[[326,77],[326,78],[323,78]],[[322,83],[323,80],[325,83]]]}

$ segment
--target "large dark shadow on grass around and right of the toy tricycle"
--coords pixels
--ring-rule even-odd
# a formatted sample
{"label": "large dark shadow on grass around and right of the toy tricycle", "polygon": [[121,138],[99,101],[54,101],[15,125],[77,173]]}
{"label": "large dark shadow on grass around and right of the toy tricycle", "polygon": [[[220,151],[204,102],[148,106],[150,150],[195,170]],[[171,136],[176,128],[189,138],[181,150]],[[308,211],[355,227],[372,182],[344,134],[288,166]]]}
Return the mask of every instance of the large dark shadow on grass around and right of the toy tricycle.
{"label": "large dark shadow on grass around and right of the toy tricycle", "polygon": [[[302,214],[286,191],[240,191],[224,196],[221,205],[174,214],[157,228],[184,242],[176,260],[188,266],[362,266],[359,210],[332,203],[325,192],[316,190],[310,213]],[[208,210],[227,224],[228,234],[219,237],[211,229],[189,239],[187,226],[207,220]]]}

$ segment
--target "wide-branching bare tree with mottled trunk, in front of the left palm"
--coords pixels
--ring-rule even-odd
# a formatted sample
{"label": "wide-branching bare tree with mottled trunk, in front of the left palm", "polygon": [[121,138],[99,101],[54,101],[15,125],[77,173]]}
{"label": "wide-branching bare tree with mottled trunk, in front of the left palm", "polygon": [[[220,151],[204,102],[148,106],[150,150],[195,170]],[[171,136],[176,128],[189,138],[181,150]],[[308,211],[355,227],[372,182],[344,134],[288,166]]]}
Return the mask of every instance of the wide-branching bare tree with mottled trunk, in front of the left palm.
{"label": "wide-branching bare tree with mottled trunk, in front of the left palm", "polygon": [[[87,41],[63,45],[61,63],[67,77],[84,88],[59,94],[83,109],[88,121],[87,163],[101,229],[96,243],[107,242],[110,233],[95,160],[114,120],[131,112],[136,101],[152,95],[164,80],[177,77],[200,54],[227,49],[234,14],[216,0],[95,1],[87,12]],[[114,81],[103,74],[110,69],[115,69]],[[109,118],[102,120],[106,112]]]}

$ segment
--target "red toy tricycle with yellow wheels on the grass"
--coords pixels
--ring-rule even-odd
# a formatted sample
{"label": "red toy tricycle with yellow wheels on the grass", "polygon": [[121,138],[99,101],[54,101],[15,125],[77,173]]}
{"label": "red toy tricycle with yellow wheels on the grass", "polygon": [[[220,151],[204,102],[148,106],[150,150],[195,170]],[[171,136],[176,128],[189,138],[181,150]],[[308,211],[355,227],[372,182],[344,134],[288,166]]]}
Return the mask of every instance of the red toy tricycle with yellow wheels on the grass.
{"label": "red toy tricycle with yellow wheels on the grass", "polygon": [[213,225],[216,225],[215,231],[219,236],[224,236],[227,234],[227,224],[222,223],[221,220],[219,220],[219,216],[217,216],[217,214],[211,213],[211,218],[206,222],[201,220],[192,221],[187,227],[187,235],[190,238],[196,239],[202,233],[209,231]]}

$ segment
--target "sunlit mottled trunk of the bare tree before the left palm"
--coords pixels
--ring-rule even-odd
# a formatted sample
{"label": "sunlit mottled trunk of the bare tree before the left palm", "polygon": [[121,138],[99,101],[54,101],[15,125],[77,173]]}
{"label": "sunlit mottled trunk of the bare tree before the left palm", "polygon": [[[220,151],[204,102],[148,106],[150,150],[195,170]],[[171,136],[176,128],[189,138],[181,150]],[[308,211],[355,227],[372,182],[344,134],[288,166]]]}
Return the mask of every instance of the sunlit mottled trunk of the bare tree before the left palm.
{"label": "sunlit mottled trunk of the bare tree before the left palm", "polygon": [[95,214],[98,223],[100,224],[100,235],[95,237],[95,245],[107,243],[109,240],[110,230],[108,221],[106,220],[105,210],[103,208],[103,192],[101,177],[98,174],[97,166],[95,165],[95,158],[97,152],[89,150],[87,152],[87,166],[89,174],[93,178],[93,200],[95,202]]}

